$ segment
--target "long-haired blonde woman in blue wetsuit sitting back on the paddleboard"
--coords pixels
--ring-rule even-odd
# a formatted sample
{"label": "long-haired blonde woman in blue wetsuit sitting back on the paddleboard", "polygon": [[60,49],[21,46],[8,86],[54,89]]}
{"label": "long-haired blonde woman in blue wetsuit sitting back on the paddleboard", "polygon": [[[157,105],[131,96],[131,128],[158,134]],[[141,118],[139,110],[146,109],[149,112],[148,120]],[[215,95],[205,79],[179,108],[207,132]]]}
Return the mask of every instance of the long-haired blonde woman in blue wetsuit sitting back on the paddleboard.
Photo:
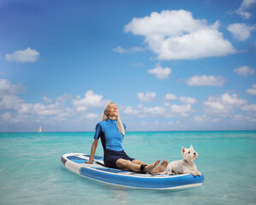
{"label": "long-haired blonde woman in blue wetsuit sitting back on the paddleboard", "polygon": [[[127,168],[140,173],[161,173],[168,166],[168,161],[160,160],[147,165],[142,161],[129,157],[122,149],[122,139],[126,126],[122,124],[118,108],[114,102],[109,102],[104,108],[101,121],[96,126],[94,142],[92,143],[91,155],[86,163],[92,164],[95,151],[98,146],[98,138],[104,149],[104,165],[112,168]],[[158,167],[157,167],[158,166]]]}

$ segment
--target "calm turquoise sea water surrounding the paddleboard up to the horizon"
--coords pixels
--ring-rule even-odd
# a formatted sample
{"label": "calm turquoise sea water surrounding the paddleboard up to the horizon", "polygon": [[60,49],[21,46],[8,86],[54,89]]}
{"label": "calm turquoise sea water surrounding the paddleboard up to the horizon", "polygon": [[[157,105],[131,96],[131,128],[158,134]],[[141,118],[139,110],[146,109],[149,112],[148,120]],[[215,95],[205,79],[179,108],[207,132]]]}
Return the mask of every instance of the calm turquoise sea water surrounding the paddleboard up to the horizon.
{"label": "calm turquoise sea water surrounding the paddleboard up to the horizon", "polygon": [[[123,190],[68,171],[61,156],[90,153],[93,132],[0,133],[0,204],[256,204],[256,132],[127,132],[123,148],[146,163],[199,153],[190,190]],[[96,155],[103,155],[98,144]]]}

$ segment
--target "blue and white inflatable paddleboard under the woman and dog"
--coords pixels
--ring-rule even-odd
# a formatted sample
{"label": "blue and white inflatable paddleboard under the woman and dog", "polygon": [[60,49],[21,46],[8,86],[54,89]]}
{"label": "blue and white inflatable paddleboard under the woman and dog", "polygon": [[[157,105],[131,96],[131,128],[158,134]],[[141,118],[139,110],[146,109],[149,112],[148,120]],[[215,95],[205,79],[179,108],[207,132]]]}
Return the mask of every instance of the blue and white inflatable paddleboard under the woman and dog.
{"label": "blue and white inflatable paddleboard under the woman and dog", "polygon": [[163,173],[134,173],[104,167],[102,156],[94,156],[93,164],[87,164],[90,155],[68,153],[62,156],[63,165],[80,176],[110,185],[150,190],[178,190],[202,185],[205,178],[192,174],[168,175]]}

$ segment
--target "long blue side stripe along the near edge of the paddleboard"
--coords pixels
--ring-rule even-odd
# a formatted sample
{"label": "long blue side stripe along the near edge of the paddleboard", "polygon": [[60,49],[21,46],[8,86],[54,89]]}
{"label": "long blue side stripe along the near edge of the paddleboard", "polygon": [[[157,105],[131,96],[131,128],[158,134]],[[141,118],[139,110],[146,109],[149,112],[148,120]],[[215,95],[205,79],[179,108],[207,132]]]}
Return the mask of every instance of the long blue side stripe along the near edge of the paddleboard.
{"label": "long blue side stripe along the near edge of the paddleboard", "polygon": [[111,174],[107,172],[99,172],[95,169],[90,169],[86,167],[82,167],[80,169],[80,174],[92,179],[98,179],[100,181],[116,185],[126,185],[131,187],[140,187],[148,189],[166,189],[182,185],[203,183],[204,181],[204,175],[202,175],[201,177],[193,177],[193,175],[190,174],[169,178],[140,178],[119,174]]}

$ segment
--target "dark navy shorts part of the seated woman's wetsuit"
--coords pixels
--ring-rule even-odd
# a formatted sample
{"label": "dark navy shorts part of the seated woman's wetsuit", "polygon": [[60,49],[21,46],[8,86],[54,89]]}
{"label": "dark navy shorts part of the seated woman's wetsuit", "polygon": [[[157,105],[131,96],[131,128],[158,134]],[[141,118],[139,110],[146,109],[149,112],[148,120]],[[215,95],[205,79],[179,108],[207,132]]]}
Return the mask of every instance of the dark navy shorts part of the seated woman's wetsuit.
{"label": "dark navy shorts part of the seated woman's wetsuit", "polygon": [[134,161],[134,158],[131,158],[128,155],[126,155],[124,150],[122,150],[122,151],[114,151],[114,150],[110,150],[110,149],[105,150],[105,152],[104,152],[105,167],[118,168],[118,167],[116,167],[116,161],[119,159]]}

